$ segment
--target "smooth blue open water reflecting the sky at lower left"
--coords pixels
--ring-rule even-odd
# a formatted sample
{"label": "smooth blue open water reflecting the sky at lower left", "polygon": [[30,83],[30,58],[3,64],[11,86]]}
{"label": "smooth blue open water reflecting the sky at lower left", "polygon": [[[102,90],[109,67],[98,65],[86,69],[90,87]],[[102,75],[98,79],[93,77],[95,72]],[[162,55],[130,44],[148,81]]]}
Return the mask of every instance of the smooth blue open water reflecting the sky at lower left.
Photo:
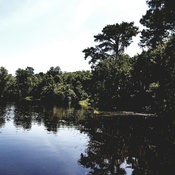
{"label": "smooth blue open water reflecting the sky at lower left", "polygon": [[1,116],[4,124],[1,123],[0,128],[0,174],[86,173],[87,170],[80,166],[77,160],[87,146],[87,134],[80,133],[77,126],[63,121],[55,123],[58,125],[55,130],[55,126],[49,123],[52,116],[48,116],[48,122],[43,123],[36,119],[39,113],[27,115],[25,111],[23,119],[19,116],[19,110],[21,109],[9,106],[4,116]]}

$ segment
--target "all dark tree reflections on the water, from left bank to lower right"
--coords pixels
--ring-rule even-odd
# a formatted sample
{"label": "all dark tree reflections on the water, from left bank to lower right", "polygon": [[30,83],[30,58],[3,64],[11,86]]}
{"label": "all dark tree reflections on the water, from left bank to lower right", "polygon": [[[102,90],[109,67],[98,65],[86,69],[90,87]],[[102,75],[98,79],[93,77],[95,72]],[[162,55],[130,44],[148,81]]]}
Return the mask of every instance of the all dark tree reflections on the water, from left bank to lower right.
{"label": "all dark tree reflections on the water, from left bank to lower right", "polygon": [[[89,138],[87,148],[77,160],[89,175],[167,175],[174,172],[174,121],[134,116],[93,117],[82,109],[57,106],[1,105],[0,128],[8,121],[27,131],[33,125],[44,126],[48,133],[54,134],[63,126],[76,126]],[[79,135],[71,144],[78,140]],[[86,171],[81,172],[85,174]]]}

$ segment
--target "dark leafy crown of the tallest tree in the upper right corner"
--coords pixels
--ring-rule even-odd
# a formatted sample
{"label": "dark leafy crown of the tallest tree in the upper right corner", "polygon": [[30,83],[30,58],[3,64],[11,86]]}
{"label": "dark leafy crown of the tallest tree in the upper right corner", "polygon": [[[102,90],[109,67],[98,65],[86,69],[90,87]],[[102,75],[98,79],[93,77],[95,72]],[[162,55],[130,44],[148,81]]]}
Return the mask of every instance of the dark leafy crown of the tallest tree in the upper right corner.
{"label": "dark leafy crown of the tallest tree in the upper right corner", "polygon": [[154,49],[164,44],[175,33],[174,0],[147,0],[149,10],[140,23],[146,28],[141,32],[141,47]]}

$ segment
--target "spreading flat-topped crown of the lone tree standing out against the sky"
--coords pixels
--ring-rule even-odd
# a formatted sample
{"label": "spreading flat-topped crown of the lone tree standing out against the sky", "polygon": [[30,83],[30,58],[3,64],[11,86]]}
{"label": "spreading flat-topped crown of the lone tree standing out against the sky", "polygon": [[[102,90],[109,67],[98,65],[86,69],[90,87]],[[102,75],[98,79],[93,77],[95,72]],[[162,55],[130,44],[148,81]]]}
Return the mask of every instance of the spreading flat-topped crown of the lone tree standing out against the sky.
{"label": "spreading flat-topped crown of the lone tree standing out against the sky", "polygon": [[104,59],[118,60],[124,49],[132,43],[132,37],[137,34],[138,27],[134,26],[133,22],[107,25],[102,33],[94,36],[94,41],[99,44],[83,50],[85,59],[91,58],[89,63],[92,68]]}

